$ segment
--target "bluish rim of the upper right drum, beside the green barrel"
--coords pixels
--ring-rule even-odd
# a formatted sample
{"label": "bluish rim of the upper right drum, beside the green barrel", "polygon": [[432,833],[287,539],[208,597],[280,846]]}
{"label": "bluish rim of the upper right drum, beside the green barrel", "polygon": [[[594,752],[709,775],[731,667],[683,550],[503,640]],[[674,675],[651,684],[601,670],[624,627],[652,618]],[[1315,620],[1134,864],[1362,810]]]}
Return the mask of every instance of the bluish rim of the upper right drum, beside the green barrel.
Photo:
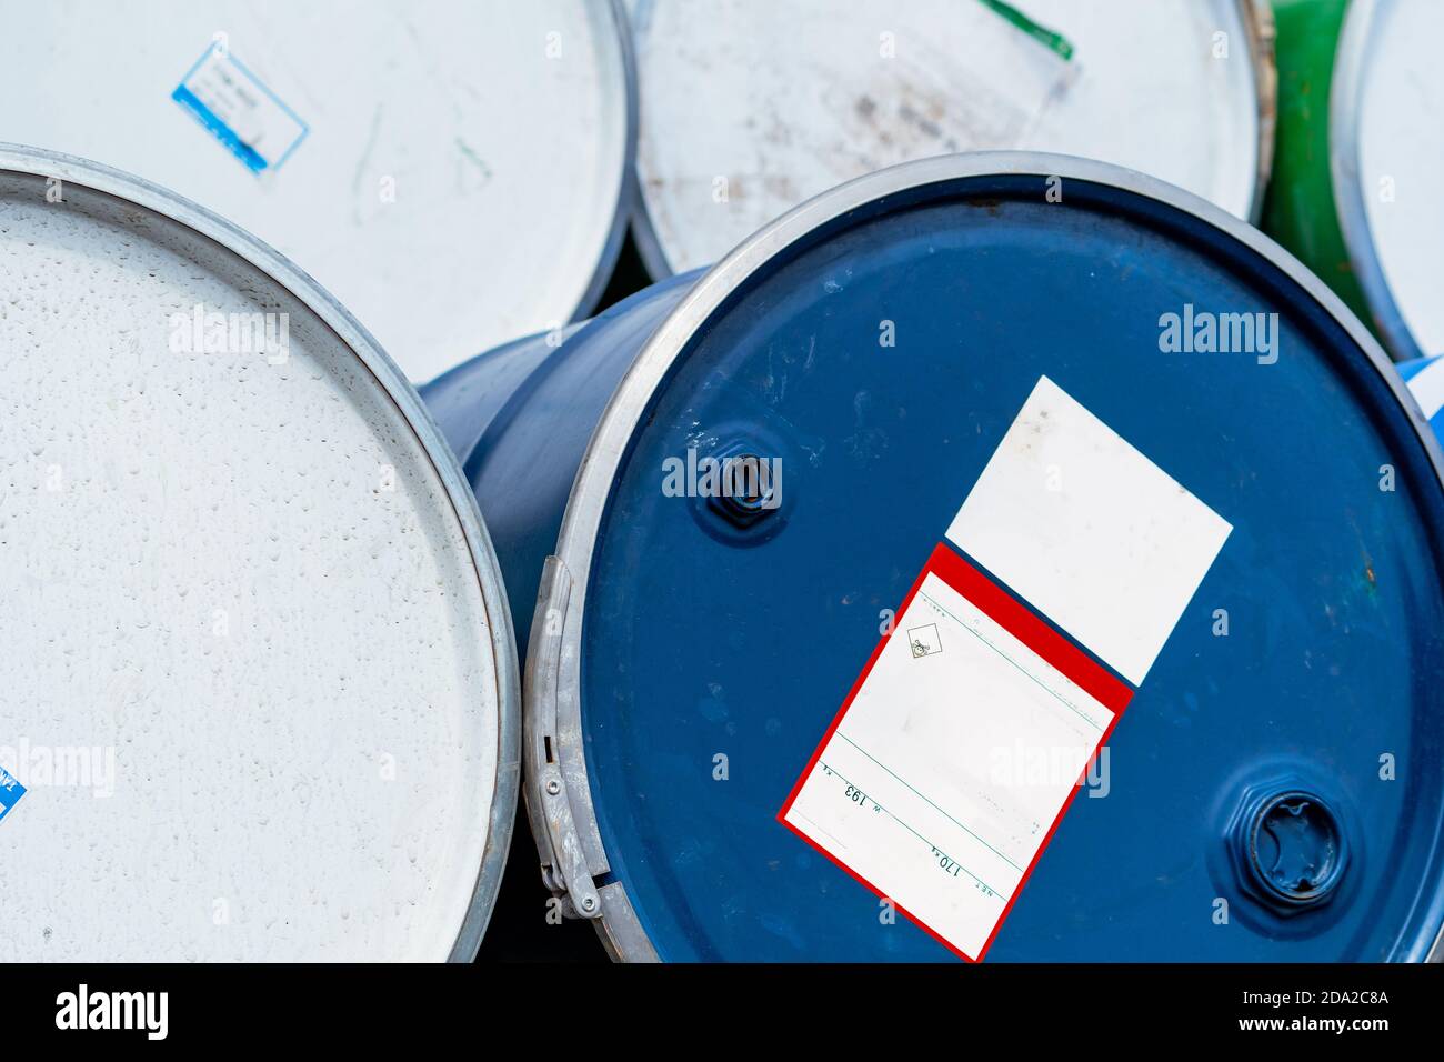
{"label": "bluish rim of the upper right drum, beside the green barrel", "polygon": [[1369,225],[1360,172],[1359,110],[1369,69],[1369,49],[1379,14],[1378,0],[1353,0],[1344,12],[1334,55],[1333,87],[1328,94],[1328,176],[1334,188],[1334,211],[1365,302],[1389,353],[1398,361],[1428,357],[1409,331],[1404,311],[1383,275],[1383,260]]}

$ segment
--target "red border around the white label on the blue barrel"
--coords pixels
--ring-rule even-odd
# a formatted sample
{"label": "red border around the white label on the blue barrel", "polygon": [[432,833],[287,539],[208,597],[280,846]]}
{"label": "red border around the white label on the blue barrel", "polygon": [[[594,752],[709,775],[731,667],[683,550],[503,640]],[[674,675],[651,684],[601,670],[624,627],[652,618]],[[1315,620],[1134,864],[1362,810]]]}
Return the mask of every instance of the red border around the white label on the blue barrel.
{"label": "red border around the white label on the blue barrel", "polygon": [[[941,933],[936,932],[923,919],[917,918],[911,912],[905,910],[901,905],[897,909],[913,922],[918,929],[926,932],[934,941],[941,944],[950,952],[957,955],[957,958],[965,962],[982,962],[988,955],[988,949],[992,948],[992,942],[998,938],[998,931],[1002,929],[1002,923],[1008,920],[1008,913],[1012,910],[1012,905],[1018,902],[1019,893],[1022,893],[1024,886],[1028,884],[1028,878],[1032,877],[1032,868],[1038,865],[1038,860],[1043,852],[1047,851],[1048,842],[1053,841],[1053,835],[1058,829],[1058,824],[1063,822],[1063,816],[1067,815],[1069,808],[1073,806],[1073,800],[1082,789],[1083,780],[1087,777],[1089,769],[1097,759],[1097,750],[1108,744],[1109,735],[1113,733],[1113,727],[1118,725],[1118,720],[1122,717],[1123,709],[1134,696],[1132,688],[1110,675],[1102,665],[1087,656],[1082,649],[1074,646],[1066,637],[1053,630],[1048,624],[1034,616],[1028,608],[1014,598],[1008,591],[999,587],[996,582],[989,579],[980,571],[973,568],[967,561],[953,552],[952,548],[939,542],[933,548],[933,555],[923,565],[923,571],[918,572],[917,579],[913,582],[913,588],[908,590],[907,597],[897,610],[897,616],[902,616],[907,607],[913,604],[913,598],[923,585],[923,579],[928,574],[936,575],[954,591],[967,598],[979,610],[982,610],[993,623],[1001,626],[1015,639],[1022,642],[1028,649],[1041,656],[1050,665],[1057,668],[1063,675],[1066,675],[1071,682],[1074,682],[1080,689],[1087,692],[1099,704],[1113,712],[1113,721],[1108,724],[1108,730],[1099,737],[1097,744],[1093,746],[1093,754],[1089,757],[1087,764],[1083,767],[1083,774],[1079,776],[1079,782],[1073,786],[1069,798],[1063,802],[1058,809],[1057,818],[1053,819],[1053,825],[1048,826],[1048,832],[1043,837],[1043,842],[1038,845],[1038,851],[1034,852],[1032,860],[1028,863],[1028,868],[1018,878],[1018,886],[1012,890],[1012,896],[1008,897],[1008,903],[1002,909],[1002,915],[998,916],[998,922],[993,925],[992,932],[983,942],[982,951],[975,957],[966,954],[956,945],[950,944]],[[812,776],[813,769],[817,766],[817,760],[822,759],[822,750],[826,748],[827,741],[836,733],[838,725],[842,718],[848,714],[852,707],[853,698],[858,696],[858,691],[862,689],[862,683],[866,681],[868,675],[872,672],[872,666],[878,662],[882,655],[884,646],[887,646],[888,639],[892,633],[884,634],[877,647],[872,650],[872,656],[868,657],[866,666],[862,673],[858,675],[856,682],[852,683],[852,689],[848,691],[846,699],[842,702],[842,708],[832,718],[832,725],[827,727],[827,733],[822,735],[817,743],[817,748],[813,750],[812,759],[807,760],[807,766],[803,767],[803,773],[799,776],[797,782],[793,785],[791,792],[787,795],[787,802],[783,803],[781,811],[777,812],[777,821],[781,822],[787,829],[794,832],[803,841],[806,841],[819,854],[826,857],[829,861],[840,867],[849,877],[858,881],[861,886],[877,894],[879,899],[888,899],[887,894],[878,889],[875,884],[868,881],[862,874],[855,871],[840,858],[833,855],[830,851],[823,848],[817,841],[807,837],[797,826],[787,821],[787,812],[791,811],[793,802],[797,799],[797,793],[801,792],[803,783]],[[894,902],[895,903],[895,902]]]}

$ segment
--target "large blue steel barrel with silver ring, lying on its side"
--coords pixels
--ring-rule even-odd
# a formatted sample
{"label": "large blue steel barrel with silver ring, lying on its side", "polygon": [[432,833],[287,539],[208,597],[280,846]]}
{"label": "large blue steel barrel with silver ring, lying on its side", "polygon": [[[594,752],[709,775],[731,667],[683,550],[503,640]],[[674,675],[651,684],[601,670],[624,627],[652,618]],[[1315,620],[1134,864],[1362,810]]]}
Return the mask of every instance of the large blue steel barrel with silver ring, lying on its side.
{"label": "large blue steel barrel with silver ring, lying on its side", "polygon": [[[1271,338],[1167,338],[1209,314]],[[615,957],[949,958],[778,809],[1044,376],[1232,532],[989,958],[1435,948],[1437,442],[1259,233],[1132,172],[980,155],[843,185],[425,390],[529,639],[543,876]],[[781,497],[666,490],[689,454],[780,458]]]}

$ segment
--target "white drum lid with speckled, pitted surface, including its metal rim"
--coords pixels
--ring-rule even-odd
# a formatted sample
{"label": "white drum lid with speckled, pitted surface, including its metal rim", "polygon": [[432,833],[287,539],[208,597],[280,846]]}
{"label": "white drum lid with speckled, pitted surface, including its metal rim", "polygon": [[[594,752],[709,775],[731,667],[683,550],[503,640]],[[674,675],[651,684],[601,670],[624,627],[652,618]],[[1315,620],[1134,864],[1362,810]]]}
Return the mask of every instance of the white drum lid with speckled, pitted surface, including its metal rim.
{"label": "white drum lid with speckled, pitted surface, including its metal rim", "polygon": [[516,650],[416,393],[284,259],[75,159],[0,152],[0,949],[469,958]]}

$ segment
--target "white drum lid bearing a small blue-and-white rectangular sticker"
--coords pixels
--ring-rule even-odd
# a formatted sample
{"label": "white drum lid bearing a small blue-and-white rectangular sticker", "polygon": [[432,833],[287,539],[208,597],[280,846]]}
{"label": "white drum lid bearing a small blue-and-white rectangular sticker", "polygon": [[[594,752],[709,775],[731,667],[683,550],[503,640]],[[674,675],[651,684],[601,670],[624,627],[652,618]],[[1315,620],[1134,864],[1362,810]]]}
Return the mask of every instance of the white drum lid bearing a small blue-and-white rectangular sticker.
{"label": "white drum lid bearing a small blue-and-white rectangular sticker", "polygon": [[634,137],[609,0],[0,1],[0,140],[277,247],[412,380],[585,316]]}

